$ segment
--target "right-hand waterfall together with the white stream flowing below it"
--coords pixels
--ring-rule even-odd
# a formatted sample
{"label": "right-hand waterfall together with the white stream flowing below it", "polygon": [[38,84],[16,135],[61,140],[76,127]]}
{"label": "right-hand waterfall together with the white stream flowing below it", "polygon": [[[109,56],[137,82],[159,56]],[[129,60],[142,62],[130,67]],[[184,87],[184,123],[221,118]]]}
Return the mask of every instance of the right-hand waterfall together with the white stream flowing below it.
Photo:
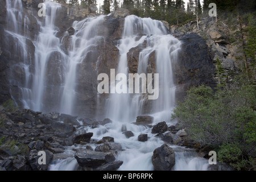
{"label": "right-hand waterfall together with the white stream flowing below it", "polygon": [[[144,34],[137,38],[138,34]],[[155,51],[156,73],[159,73],[159,98],[154,102],[150,115],[154,117],[154,123],[166,121],[170,122],[171,111],[175,104],[175,85],[172,74],[172,63],[177,60],[177,51],[181,42],[172,35],[167,34],[163,23],[150,18],[138,18],[137,16],[127,16],[123,30],[122,39],[117,45],[120,53],[117,73],[129,73],[127,67],[127,52],[133,47],[137,47],[144,41],[147,42],[139,56],[138,73],[147,73],[148,57]],[[113,83],[112,83],[113,84]],[[110,84],[110,85],[112,85]],[[114,86],[114,84],[112,85]],[[115,142],[122,145],[123,151],[116,154],[117,160],[122,160],[123,164],[118,170],[125,171],[150,171],[154,170],[151,162],[152,152],[160,147],[164,142],[151,134],[151,128],[147,126],[137,126],[132,122],[143,111],[142,94],[110,94],[106,102],[106,118],[113,119],[113,123],[106,126],[99,126],[95,129],[84,127],[86,132],[93,133],[93,139],[100,140],[102,137],[113,137]],[[134,137],[127,139],[122,134],[122,127],[127,131],[132,131]],[[148,134],[146,142],[139,142],[138,135]],[[96,144],[90,144],[93,148]],[[73,146],[74,147],[74,146]],[[79,147],[79,146],[77,146]],[[82,146],[80,146],[82,147]],[[83,146],[85,147],[85,146]],[[180,146],[170,146],[175,150],[176,164],[173,170],[207,170],[208,160],[199,158],[193,150]],[[73,170],[77,167],[76,159],[63,159],[51,165],[51,170]],[[65,166],[65,163],[72,164]]]}

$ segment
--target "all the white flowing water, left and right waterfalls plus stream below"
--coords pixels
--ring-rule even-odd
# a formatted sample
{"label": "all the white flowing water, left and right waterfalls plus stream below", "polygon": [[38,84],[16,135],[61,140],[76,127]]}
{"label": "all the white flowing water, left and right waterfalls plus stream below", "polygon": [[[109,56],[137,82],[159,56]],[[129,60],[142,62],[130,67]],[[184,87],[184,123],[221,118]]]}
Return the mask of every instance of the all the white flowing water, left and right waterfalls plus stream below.
{"label": "all the white flowing water, left and right waterfalls plus stream below", "polygon": [[[10,85],[18,86],[19,101],[26,109],[73,114],[77,99],[77,67],[82,61],[86,61],[86,55],[97,46],[98,42],[104,41],[104,37],[96,30],[105,16],[73,22],[75,34],[71,36],[71,49],[65,53],[62,48],[63,42],[56,35],[58,30],[55,26],[60,5],[51,1],[45,3],[47,16],[43,22],[38,20],[40,32],[35,40],[31,40],[26,26],[29,19],[22,13],[22,0],[6,0],[8,19],[5,30],[6,42],[9,38],[16,40],[13,51],[21,55],[20,60],[23,60],[11,67]],[[34,45],[34,56],[27,51],[28,40]],[[148,62],[152,53],[155,54],[155,73],[159,73],[159,97],[152,101],[151,111],[147,115],[154,117],[152,125],[162,121],[166,121],[168,126],[175,125],[170,122],[176,92],[172,65],[179,61],[177,52],[181,49],[181,42],[168,34],[162,22],[150,18],[138,18],[134,15],[125,18],[123,35],[116,45],[120,55],[117,73],[128,75],[127,53],[131,48],[144,43],[146,46],[139,53],[138,73],[148,73]],[[17,70],[24,73],[19,81],[14,79]],[[152,152],[164,142],[154,137],[155,134],[151,134],[150,127],[133,124],[138,115],[143,115],[143,104],[146,100],[144,94],[110,94],[105,105],[105,118],[110,118],[113,122],[94,129],[81,128],[86,132],[92,132],[94,139],[100,140],[109,136],[122,145],[123,151],[115,154],[117,160],[123,161],[119,170],[154,169],[151,162]],[[51,103],[53,110],[48,110],[47,103]],[[134,137],[126,138],[122,134],[123,127],[126,127],[127,131],[132,131]],[[139,142],[139,134],[147,134],[148,140]],[[73,155],[74,151],[71,149],[76,147],[83,146],[72,146],[65,152]],[[96,144],[92,144],[92,147],[95,148]],[[208,169],[208,160],[199,158],[195,151],[180,146],[171,147],[174,148],[176,158],[174,170]],[[50,170],[77,168],[75,158],[55,160],[49,167]]]}

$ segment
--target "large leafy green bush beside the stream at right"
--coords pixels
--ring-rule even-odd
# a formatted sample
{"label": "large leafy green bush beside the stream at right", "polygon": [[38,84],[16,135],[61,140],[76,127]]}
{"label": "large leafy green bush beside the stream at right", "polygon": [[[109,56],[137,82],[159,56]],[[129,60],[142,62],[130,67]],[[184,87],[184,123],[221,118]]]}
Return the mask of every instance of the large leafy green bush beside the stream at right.
{"label": "large leafy green bush beside the stream at right", "polygon": [[215,93],[204,85],[191,88],[172,119],[187,128],[189,138],[219,150],[221,162],[241,169],[256,156],[255,106],[255,86],[238,77]]}

